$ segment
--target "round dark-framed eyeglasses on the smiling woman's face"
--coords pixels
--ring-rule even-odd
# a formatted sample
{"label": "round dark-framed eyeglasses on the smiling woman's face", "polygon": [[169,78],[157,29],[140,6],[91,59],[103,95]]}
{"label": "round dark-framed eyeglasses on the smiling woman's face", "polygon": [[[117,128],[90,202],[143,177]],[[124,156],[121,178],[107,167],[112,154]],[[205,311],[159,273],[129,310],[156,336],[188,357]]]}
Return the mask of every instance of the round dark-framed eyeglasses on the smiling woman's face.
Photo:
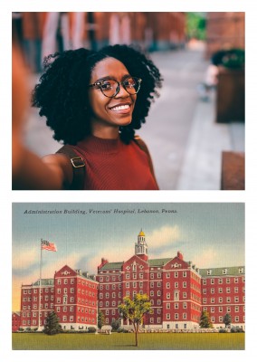
{"label": "round dark-framed eyeglasses on the smiling woman's face", "polygon": [[119,93],[120,85],[122,85],[124,90],[128,91],[129,94],[137,94],[140,89],[141,81],[140,78],[136,77],[128,77],[124,81],[106,79],[103,81],[96,81],[95,83],[90,84],[89,87],[97,87],[105,97],[113,98]]}

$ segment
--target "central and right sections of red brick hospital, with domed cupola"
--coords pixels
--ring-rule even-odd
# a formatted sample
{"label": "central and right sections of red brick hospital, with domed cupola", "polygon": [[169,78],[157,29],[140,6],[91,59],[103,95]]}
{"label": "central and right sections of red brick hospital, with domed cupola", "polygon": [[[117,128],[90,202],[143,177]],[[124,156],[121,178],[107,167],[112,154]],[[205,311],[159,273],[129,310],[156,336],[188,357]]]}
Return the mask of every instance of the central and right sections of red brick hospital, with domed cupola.
{"label": "central and right sections of red brick hospital, with domed cupola", "polygon": [[244,267],[199,270],[184,261],[181,252],[176,257],[148,259],[142,231],[128,261],[101,260],[97,281],[106,324],[121,320],[117,307],[125,296],[147,293],[154,310],[144,319],[147,329],[197,328],[203,309],[209,311],[214,327],[224,327],[222,319],[229,313],[233,325],[244,328]]}

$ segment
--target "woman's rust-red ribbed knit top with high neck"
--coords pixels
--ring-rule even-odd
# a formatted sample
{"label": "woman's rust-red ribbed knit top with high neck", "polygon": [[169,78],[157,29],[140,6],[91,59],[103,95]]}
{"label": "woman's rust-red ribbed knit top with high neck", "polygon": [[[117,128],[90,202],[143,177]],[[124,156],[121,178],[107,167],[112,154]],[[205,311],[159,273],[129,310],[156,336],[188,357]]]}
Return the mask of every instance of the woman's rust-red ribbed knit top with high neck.
{"label": "woman's rust-red ribbed knit top with high neck", "polygon": [[90,136],[72,147],[86,164],[85,190],[157,190],[148,155],[120,138]]}

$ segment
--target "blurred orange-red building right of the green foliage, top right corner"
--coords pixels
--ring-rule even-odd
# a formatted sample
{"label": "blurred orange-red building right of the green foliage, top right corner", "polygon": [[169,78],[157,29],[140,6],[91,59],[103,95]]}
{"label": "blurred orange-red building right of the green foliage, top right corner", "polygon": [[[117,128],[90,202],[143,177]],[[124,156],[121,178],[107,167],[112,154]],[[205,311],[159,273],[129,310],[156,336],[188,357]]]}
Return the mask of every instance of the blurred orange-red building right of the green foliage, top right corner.
{"label": "blurred orange-red building right of the green foliage, top right corner", "polygon": [[245,48],[244,13],[212,12],[206,14],[206,59],[214,52]]}

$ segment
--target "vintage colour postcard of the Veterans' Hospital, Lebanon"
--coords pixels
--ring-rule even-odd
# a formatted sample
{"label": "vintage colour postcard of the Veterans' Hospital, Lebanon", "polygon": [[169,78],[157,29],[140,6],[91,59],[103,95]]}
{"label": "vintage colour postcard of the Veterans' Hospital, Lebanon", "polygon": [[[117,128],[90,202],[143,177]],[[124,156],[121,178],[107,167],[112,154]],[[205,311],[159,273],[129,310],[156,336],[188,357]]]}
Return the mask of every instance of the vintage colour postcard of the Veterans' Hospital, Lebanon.
{"label": "vintage colour postcard of the Veterans' Hospital, Lebanon", "polygon": [[244,349],[243,203],[14,203],[13,349]]}

